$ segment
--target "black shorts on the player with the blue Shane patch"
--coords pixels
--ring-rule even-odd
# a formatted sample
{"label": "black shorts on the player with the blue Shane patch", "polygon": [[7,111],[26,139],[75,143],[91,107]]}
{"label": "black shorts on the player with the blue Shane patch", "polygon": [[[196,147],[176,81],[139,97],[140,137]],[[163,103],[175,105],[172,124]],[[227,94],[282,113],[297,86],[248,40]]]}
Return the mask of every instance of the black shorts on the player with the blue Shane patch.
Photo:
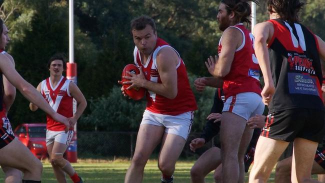
{"label": "black shorts on the player with the blue Shane patch", "polygon": [[322,142],[324,132],[324,111],[294,108],[268,114],[260,135],[284,141],[300,137]]}

